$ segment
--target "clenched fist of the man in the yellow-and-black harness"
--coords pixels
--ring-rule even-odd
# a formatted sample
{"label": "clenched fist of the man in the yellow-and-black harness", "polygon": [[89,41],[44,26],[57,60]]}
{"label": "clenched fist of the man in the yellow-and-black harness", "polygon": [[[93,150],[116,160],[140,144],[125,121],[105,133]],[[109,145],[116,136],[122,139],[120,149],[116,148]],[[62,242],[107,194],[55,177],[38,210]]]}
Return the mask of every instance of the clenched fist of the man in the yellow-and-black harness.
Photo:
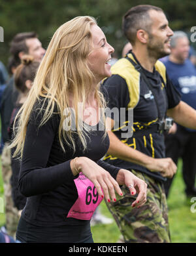
{"label": "clenched fist of the man in the yellow-and-black harness", "polygon": [[146,164],[150,171],[159,171],[163,177],[172,178],[177,171],[177,166],[171,158],[152,158]]}

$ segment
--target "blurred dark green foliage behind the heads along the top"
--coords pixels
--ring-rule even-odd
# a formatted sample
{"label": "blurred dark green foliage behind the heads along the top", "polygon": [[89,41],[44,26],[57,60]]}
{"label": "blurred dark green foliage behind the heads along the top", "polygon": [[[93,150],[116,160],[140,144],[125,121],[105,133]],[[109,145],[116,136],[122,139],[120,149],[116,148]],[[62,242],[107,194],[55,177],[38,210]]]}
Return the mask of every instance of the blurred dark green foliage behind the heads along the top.
{"label": "blurred dark green foliage behind the heads along the top", "polygon": [[46,48],[61,24],[82,15],[98,18],[108,42],[120,56],[126,43],[121,30],[122,16],[139,4],[161,7],[172,30],[189,34],[190,28],[196,26],[195,0],[1,0],[0,26],[4,29],[4,43],[0,43],[0,60],[7,65],[9,43],[16,33],[35,31]]}

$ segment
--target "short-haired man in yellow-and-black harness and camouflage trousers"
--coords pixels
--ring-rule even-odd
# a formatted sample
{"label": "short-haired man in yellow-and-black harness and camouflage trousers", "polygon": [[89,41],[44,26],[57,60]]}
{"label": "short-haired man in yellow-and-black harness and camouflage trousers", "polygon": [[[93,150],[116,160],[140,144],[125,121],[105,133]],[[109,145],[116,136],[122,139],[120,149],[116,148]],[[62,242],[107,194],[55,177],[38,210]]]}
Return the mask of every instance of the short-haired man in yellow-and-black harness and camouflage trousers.
{"label": "short-haired man in yellow-and-black harness and camouflage trousers", "polygon": [[106,205],[125,242],[169,243],[163,182],[177,167],[165,158],[164,133],[172,118],[196,128],[196,112],[182,102],[158,60],[171,53],[173,35],[163,10],[152,5],[131,8],[123,16],[123,32],[133,49],[112,66],[112,76],[102,86],[110,110],[106,112],[110,148],[104,160],[132,171],[148,184],[148,192],[145,205],[131,207],[135,196],[129,195],[134,185],[130,184],[122,187],[123,198]]}

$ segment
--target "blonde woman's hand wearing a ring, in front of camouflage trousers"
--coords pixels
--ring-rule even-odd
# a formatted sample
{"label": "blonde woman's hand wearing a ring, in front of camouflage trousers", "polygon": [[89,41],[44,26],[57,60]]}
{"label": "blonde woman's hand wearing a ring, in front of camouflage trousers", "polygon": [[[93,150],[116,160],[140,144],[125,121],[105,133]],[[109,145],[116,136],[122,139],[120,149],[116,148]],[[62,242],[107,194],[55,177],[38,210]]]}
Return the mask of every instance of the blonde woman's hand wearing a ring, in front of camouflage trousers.
{"label": "blonde woman's hand wearing a ring, in front of camouflage trousers", "polygon": [[139,179],[135,176],[131,171],[120,169],[118,175],[116,177],[116,181],[118,184],[125,184],[130,190],[132,196],[136,193],[138,194],[136,200],[132,203],[132,207],[140,207],[144,203],[146,203],[146,194],[147,194],[147,184],[146,182]]}

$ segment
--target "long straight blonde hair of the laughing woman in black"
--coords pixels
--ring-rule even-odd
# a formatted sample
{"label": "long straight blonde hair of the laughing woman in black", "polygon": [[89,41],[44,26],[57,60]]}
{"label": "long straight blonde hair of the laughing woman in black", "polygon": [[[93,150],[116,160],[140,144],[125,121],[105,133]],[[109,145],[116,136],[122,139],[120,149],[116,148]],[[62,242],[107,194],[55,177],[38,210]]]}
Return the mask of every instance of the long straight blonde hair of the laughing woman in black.
{"label": "long straight blonde hair of the laughing woman in black", "polygon": [[[96,20],[90,16],[79,16],[61,25],[54,33],[39,66],[28,98],[20,112],[18,112],[18,116],[16,116],[16,119],[19,117],[18,127],[16,135],[10,144],[10,147],[16,148],[14,156],[22,156],[23,154],[27,123],[33,106],[35,106],[37,100],[40,100],[40,96],[44,97],[41,110],[47,100],[47,107],[44,110],[40,126],[50,119],[56,105],[60,116],[58,137],[61,148],[65,152],[63,147],[64,139],[75,151],[74,131],[72,129],[69,129],[69,131],[63,129],[63,125],[65,125],[65,123],[63,124],[65,112],[63,113],[63,111],[73,107],[75,111],[76,132],[84,149],[86,149],[86,135],[89,130],[88,128],[80,129],[83,124],[82,119],[77,118],[77,103],[82,102],[84,109],[89,93],[95,90],[95,99],[99,109],[102,111],[101,116],[105,116],[103,113],[105,100],[99,91],[100,85],[92,88],[94,76],[88,67],[87,60],[88,54],[92,49],[91,26],[96,24]],[[70,106],[69,103],[70,93],[73,95],[74,106]],[[105,119],[103,122],[105,123]]]}

